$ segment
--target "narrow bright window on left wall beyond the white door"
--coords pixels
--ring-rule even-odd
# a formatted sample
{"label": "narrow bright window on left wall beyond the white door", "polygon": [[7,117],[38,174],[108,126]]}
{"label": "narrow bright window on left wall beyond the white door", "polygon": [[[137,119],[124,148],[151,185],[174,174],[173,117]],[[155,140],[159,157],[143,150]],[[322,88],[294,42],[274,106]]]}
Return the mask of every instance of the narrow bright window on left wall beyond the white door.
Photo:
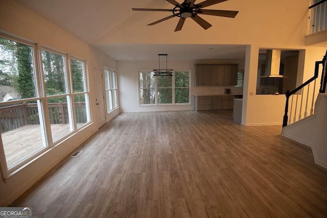
{"label": "narrow bright window on left wall beyond the white door", "polygon": [[116,107],[118,107],[116,71],[105,67],[104,78],[105,78],[105,89],[106,89],[107,112],[110,112]]}

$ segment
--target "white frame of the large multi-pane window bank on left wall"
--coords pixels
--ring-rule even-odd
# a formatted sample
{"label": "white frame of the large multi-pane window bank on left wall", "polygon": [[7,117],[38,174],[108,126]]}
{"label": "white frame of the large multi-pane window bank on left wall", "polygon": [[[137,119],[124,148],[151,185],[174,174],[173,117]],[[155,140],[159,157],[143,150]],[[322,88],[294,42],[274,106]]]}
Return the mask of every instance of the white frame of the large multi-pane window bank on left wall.
{"label": "white frame of the large multi-pane window bank on left wall", "polygon": [[[41,148],[39,151],[35,152],[31,156],[19,161],[15,165],[8,168],[6,155],[4,151],[3,141],[2,137],[0,136],[0,165],[1,165],[1,171],[2,171],[2,177],[4,180],[8,179],[12,175],[14,175],[16,172],[20,171],[20,169],[25,168],[30,162],[40,157],[42,154],[47,152],[48,150],[51,150],[52,148],[59,146],[59,144],[67,139],[68,137],[71,137],[73,134],[79,132],[81,129],[85,128],[86,126],[90,125],[92,120],[92,114],[91,114],[91,108],[90,108],[90,94],[89,94],[89,75],[88,75],[88,68],[87,68],[87,62],[84,59],[81,59],[79,57],[69,55],[67,53],[64,53],[62,51],[56,50],[52,47],[46,46],[46,45],[38,45],[37,43],[23,39],[18,36],[12,36],[4,33],[0,33],[0,37],[11,40],[17,43],[25,44],[28,46],[31,46],[32,49],[32,63],[33,63],[33,73],[34,73],[34,80],[35,80],[35,98],[27,98],[27,99],[21,99],[21,100],[15,100],[11,101],[12,103],[23,103],[23,102],[29,102],[29,101],[37,101],[38,105],[38,111],[39,111],[39,122],[40,122],[40,131],[42,134],[42,142],[45,147]],[[46,95],[46,87],[45,87],[45,81],[44,81],[44,72],[43,72],[43,61],[42,61],[42,50],[51,52],[54,54],[58,54],[64,57],[64,70],[65,70],[65,86],[66,86],[66,93],[58,94],[58,95]],[[73,87],[73,80],[72,80],[72,71],[71,71],[71,59],[82,61],[83,62],[83,76],[84,76],[84,92],[76,92],[74,93],[74,87]],[[85,104],[88,106],[88,122],[83,124],[82,126],[77,128],[77,122],[76,122],[76,110],[75,110],[75,95],[77,94],[87,94],[87,97],[85,98]],[[73,124],[73,130],[69,132],[68,134],[64,135],[60,139],[53,142],[52,140],[52,132],[51,132],[51,124],[50,124],[50,115],[49,115],[49,104],[48,99],[51,98],[58,98],[62,96],[69,96],[70,103],[71,103],[71,114],[72,118],[69,118],[69,120],[72,120]],[[0,106],[8,105],[8,102],[0,102]],[[68,103],[67,103],[68,104]],[[69,114],[69,112],[68,112]]]}

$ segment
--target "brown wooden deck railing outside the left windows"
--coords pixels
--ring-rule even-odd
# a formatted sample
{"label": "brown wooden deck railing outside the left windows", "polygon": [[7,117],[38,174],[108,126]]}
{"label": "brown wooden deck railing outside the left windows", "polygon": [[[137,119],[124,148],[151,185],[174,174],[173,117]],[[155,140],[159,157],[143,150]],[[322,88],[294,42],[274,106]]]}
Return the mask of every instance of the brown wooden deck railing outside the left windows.
{"label": "brown wooden deck railing outside the left windows", "polygon": [[[75,102],[77,123],[86,123],[85,102]],[[49,103],[51,124],[68,124],[67,103]],[[26,125],[39,125],[37,104],[20,104],[0,108],[1,132],[5,133]]]}

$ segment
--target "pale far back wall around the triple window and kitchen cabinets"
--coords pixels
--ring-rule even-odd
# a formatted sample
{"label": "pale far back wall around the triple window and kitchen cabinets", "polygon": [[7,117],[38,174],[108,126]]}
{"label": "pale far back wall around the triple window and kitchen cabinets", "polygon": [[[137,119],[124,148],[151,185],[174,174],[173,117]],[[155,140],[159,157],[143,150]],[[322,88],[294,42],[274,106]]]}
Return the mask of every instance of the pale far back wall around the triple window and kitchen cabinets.
{"label": "pale far back wall around the triple window and kitchen cabinets", "polygon": [[201,60],[201,61],[168,61],[168,68],[174,70],[190,70],[191,76],[191,104],[190,105],[157,105],[139,106],[138,100],[138,70],[152,70],[158,68],[158,61],[118,61],[118,87],[120,109],[122,112],[133,111],[167,111],[167,110],[194,110],[194,94],[224,93],[224,88],[230,88],[231,93],[242,93],[243,88],[235,86],[195,86],[194,64],[239,64],[244,69],[244,60]]}

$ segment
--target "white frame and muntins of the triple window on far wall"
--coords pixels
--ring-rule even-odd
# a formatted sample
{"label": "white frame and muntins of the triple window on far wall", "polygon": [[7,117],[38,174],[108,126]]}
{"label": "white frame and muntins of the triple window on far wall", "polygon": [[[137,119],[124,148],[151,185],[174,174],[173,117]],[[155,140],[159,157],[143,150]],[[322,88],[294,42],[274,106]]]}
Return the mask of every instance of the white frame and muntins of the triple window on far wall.
{"label": "white frame and muntins of the triple window on far wall", "polygon": [[[172,76],[172,103],[168,103],[168,104],[160,104],[158,103],[158,77],[155,76],[155,82],[154,82],[154,88],[141,88],[140,87],[140,81],[139,81],[139,75],[140,72],[154,72],[153,70],[149,70],[149,69],[139,69],[138,71],[138,79],[137,79],[137,88],[138,88],[138,106],[141,107],[146,107],[146,106],[173,106],[173,105],[191,105],[191,89],[192,89],[192,70],[191,69],[180,69],[180,70],[173,70],[173,76]],[[176,99],[175,99],[175,91],[176,91],[176,87],[175,87],[175,74],[176,72],[189,72],[189,87],[177,87],[177,88],[189,88],[189,102],[188,103],[176,103]],[[163,87],[161,87],[163,88]],[[170,87],[167,87],[170,88]],[[141,104],[141,89],[154,89],[155,90],[155,103],[154,104]]]}

